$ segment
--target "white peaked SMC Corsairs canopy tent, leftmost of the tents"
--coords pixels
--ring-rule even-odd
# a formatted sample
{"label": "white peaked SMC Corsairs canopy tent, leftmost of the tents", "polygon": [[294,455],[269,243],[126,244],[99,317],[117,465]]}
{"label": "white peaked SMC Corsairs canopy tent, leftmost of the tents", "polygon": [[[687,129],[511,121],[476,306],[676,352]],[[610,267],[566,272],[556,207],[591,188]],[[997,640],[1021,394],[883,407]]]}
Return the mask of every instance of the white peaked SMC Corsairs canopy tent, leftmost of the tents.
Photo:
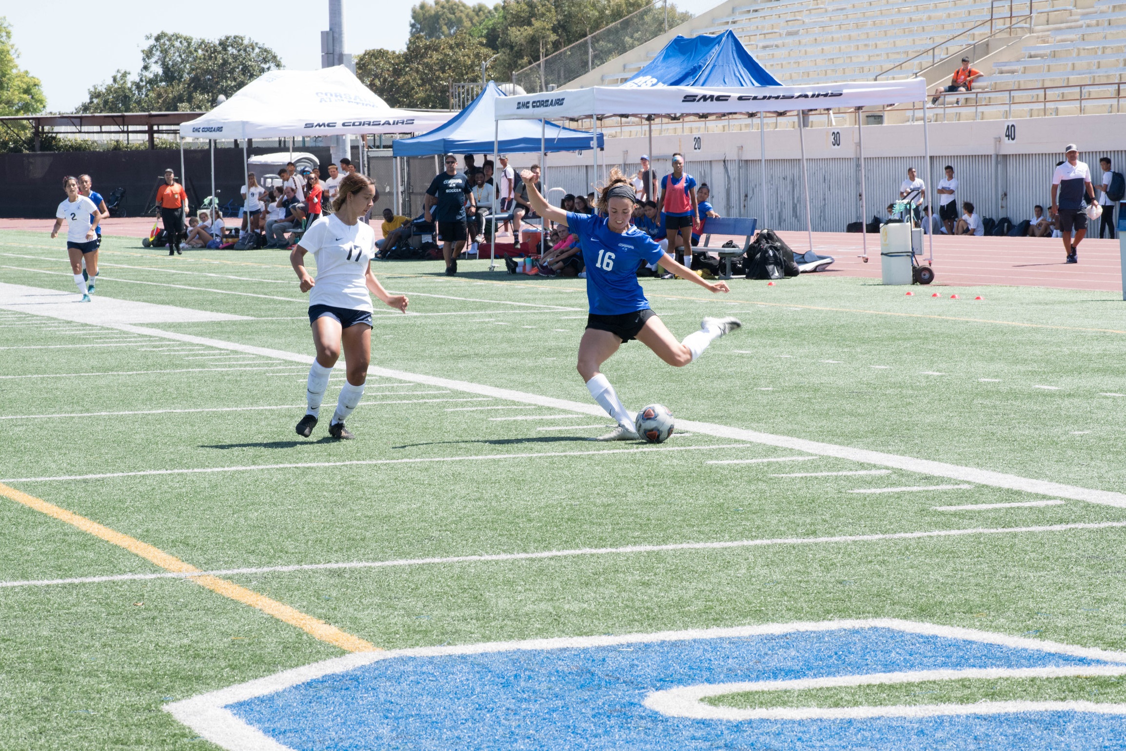
{"label": "white peaked SMC Corsairs canopy tent, leftmost of the tents", "polygon": [[[180,125],[180,177],[184,178],[182,138],[207,138],[213,149],[215,140],[241,140],[245,179],[248,138],[423,133],[456,114],[391,107],[343,65],[270,71],[206,115]],[[212,195],[215,195],[214,157]]]}

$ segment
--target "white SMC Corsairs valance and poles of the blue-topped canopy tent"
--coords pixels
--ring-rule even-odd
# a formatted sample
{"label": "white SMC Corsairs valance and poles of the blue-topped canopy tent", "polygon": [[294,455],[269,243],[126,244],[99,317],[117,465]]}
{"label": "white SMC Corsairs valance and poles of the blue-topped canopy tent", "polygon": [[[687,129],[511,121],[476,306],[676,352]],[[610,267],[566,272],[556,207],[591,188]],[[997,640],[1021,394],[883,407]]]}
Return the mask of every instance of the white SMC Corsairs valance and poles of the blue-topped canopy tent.
{"label": "white SMC Corsairs valance and poles of the blue-topped canopy tent", "polygon": [[[646,115],[733,115],[780,110],[811,110],[855,108],[926,101],[927,82],[923,79],[905,81],[856,81],[814,83],[808,86],[762,86],[739,88],[714,87],[602,87],[548,91],[518,97],[506,97],[497,102],[497,119],[580,119],[591,117],[592,129],[598,133],[598,118],[605,116],[636,117]],[[926,111],[926,110],[924,110]],[[813,224],[810,216],[810,185],[805,169],[805,137],[802,117],[797,118],[798,143],[802,149],[802,187],[805,196],[805,223],[813,250]],[[930,146],[927,140],[927,117],[922,118],[923,152],[927,160],[927,185],[930,175]],[[597,159],[597,155],[596,155]],[[597,163],[596,163],[597,167]],[[867,215],[864,197],[864,140],[860,138],[860,200]],[[765,179],[763,172],[763,179]],[[932,202],[933,191],[930,194]],[[933,212],[933,207],[931,208]],[[867,233],[861,233],[867,260]],[[930,256],[933,257],[933,234],[930,234]]]}

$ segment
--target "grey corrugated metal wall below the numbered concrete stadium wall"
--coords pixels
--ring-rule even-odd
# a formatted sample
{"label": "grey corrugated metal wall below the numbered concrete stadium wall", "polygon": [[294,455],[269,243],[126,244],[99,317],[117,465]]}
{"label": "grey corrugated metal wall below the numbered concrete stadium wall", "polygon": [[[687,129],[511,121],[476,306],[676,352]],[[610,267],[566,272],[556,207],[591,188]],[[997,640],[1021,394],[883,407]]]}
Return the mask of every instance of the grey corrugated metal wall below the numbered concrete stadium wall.
{"label": "grey corrugated metal wall below the numbered concrete stadium wall", "polygon": [[[1099,158],[1110,157],[1116,171],[1126,168],[1126,151],[1082,154],[1096,182],[1101,179]],[[620,159],[620,157],[619,157]],[[1060,161],[1057,154],[1001,154],[995,157],[931,157],[931,178],[923,173],[922,158],[876,157],[865,160],[868,218],[885,216],[887,204],[899,197],[900,184],[906,179],[909,167],[914,167],[928,187],[937,186],[946,164],[954,167],[958,178],[958,202],[974,204],[982,216],[1013,222],[1028,218],[1033,206],[1047,206],[1051,198],[1052,171]],[[611,162],[604,169],[599,164],[597,182],[601,182]],[[620,168],[620,164],[617,164]],[[671,170],[667,160],[655,160],[658,175]],[[856,157],[844,159],[811,159],[806,163],[810,180],[810,214],[815,232],[842,232],[849,222],[860,220],[860,163]],[[629,164],[629,173],[636,171]],[[777,230],[804,230],[805,208],[802,198],[802,163],[797,159],[767,160],[767,209],[762,221],[762,167],[759,161],[712,160],[689,161],[687,171],[698,182],[712,188],[712,204],[723,216],[756,216],[759,226]],[[589,193],[595,189],[592,167],[551,167],[548,187],[557,186],[568,193]],[[552,194],[558,204],[562,194]],[[938,196],[935,196],[938,205]]]}

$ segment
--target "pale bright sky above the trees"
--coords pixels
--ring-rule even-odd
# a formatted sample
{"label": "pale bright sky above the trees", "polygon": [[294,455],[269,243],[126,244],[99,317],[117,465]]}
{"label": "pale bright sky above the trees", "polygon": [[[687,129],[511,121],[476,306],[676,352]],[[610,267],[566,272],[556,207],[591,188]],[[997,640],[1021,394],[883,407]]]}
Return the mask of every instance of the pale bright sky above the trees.
{"label": "pale bright sky above the trees", "polygon": [[[118,69],[136,73],[148,34],[178,32],[213,39],[239,34],[272,48],[286,68],[311,70],[321,66],[320,33],[329,28],[328,0],[188,6],[104,0],[91,7],[95,12],[48,24],[39,2],[3,5],[0,15],[12,27],[17,62],[43,81],[47,111],[73,111],[90,87],[108,81]],[[345,0],[345,50],[359,54],[372,47],[404,48],[413,5],[415,0]],[[716,5],[718,0],[677,0],[677,7],[694,15]],[[63,54],[68,47],[81,48],[81,54]]]}

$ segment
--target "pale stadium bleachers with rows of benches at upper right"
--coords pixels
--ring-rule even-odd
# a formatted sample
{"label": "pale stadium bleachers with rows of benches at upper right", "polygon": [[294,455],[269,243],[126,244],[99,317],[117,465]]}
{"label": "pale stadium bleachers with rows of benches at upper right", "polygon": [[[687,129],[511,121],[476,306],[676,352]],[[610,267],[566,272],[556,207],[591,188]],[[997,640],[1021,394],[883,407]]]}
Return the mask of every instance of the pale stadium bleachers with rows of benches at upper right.
{"label": "pale stadium bleachers with rows of benches at upper right", "polygon": [[[716,12],[680,33],[732,30],[784,83],[922,75],[933,89],[966,54],[985,75],[972,96],[944,98],[937,119],[1120,111],[1126,0],[772,0]],[[661,44],[609,63],[600,83],[624,82]]]}

